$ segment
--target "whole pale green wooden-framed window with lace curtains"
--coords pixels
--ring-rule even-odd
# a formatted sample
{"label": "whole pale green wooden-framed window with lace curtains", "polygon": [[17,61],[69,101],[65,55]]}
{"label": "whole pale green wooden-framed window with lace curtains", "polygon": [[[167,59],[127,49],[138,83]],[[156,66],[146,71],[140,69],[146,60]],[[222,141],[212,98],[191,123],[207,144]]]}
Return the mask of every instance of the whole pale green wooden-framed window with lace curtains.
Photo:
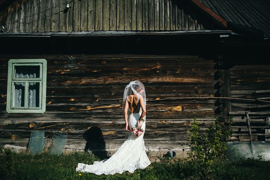
{"label": "whole pale green wooden-framed window with lace curtains", "polygon": [[46,59],[10,59],[7,75],[7,113],[44,113]]}

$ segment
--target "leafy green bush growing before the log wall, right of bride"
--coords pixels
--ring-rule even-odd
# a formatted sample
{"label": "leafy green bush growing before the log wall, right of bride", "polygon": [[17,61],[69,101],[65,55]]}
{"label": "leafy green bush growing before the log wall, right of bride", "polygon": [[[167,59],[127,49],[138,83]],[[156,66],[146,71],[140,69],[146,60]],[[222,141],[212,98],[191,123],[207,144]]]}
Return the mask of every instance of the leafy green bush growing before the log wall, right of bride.
{"label": "leafy green bush growing before the log wall, right of bride", "polygon": [[[232,117],[230,117],[229,127],[232,122]],[[218,117],[216,117],[215,124],[211,123],[205,133],[200,132],[198,125],[199,123],[196,121],[196,117],[194,117],[189,137],[191,152],[188,153],[188,158],[195,162],[199,178],[209,179],[209,174],[213,171],[213,164],[218,159],[224,157],[224,151],[228,147],[222,139],[223,128],[220,125],[220,119]],[[231,131],[227,130],[224,134],[227,140],[231,136]]]}

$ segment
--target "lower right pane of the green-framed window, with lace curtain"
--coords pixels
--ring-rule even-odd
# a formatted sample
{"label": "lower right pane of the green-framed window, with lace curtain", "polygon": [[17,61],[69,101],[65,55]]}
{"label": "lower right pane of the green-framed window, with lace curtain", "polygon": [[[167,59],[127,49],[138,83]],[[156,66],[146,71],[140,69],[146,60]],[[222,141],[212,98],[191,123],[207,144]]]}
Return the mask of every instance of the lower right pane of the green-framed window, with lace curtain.
{"label": "lower right pane of the green-framed window, with lace curtain", "polygon": [[39,107],[39,82],[29,82],[28,107]]}

